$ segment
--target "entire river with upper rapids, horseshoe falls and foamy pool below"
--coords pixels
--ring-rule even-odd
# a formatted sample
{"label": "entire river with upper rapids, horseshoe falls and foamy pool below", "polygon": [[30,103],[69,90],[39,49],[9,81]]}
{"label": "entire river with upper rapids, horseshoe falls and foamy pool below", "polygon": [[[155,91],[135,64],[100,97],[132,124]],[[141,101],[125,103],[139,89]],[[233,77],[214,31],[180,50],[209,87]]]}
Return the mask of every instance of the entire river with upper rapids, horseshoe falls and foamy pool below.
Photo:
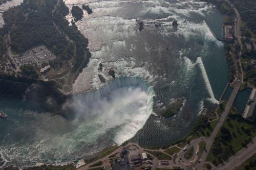
{"label": "entire river with upper rapids, horseshoe falls and foamy pool below", "polygon": [[[73,4],[93,9],[76,23],[89,39],[92,57],[75,80],[74,102],[63,106],[72,107],[76,118],[67,121],[31,108],[30,102],[0,98],[0,109],[9,115],[0,119],[0,166],[65,163],[130,138],[149,147],[167,145],[183,138],[199,114],[216,106],[228,81],[228,65],[224,44],[209,29],[222,38],[223,15],[214,6],[197,0],[65,3],[70,9]],[[176,116],[152,114],[181,98],[184,104]]]}

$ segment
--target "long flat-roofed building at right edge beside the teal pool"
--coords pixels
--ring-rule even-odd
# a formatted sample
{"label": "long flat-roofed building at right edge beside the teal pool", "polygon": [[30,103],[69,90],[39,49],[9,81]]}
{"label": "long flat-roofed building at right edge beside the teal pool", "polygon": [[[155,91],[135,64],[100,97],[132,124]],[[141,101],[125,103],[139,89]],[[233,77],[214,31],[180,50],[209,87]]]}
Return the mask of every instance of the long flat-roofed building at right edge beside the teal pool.
{"label": "long flat-roofed building at right edge beside the teal pool", "polygon": [[254,122],[255,120],[255,116],[256,116],[255,106],[256,106],[256,88],[253,88],[251,90],[249,100],[247,102],[247,105],[243,113],[243,117],[249,120],[250,122]]}

